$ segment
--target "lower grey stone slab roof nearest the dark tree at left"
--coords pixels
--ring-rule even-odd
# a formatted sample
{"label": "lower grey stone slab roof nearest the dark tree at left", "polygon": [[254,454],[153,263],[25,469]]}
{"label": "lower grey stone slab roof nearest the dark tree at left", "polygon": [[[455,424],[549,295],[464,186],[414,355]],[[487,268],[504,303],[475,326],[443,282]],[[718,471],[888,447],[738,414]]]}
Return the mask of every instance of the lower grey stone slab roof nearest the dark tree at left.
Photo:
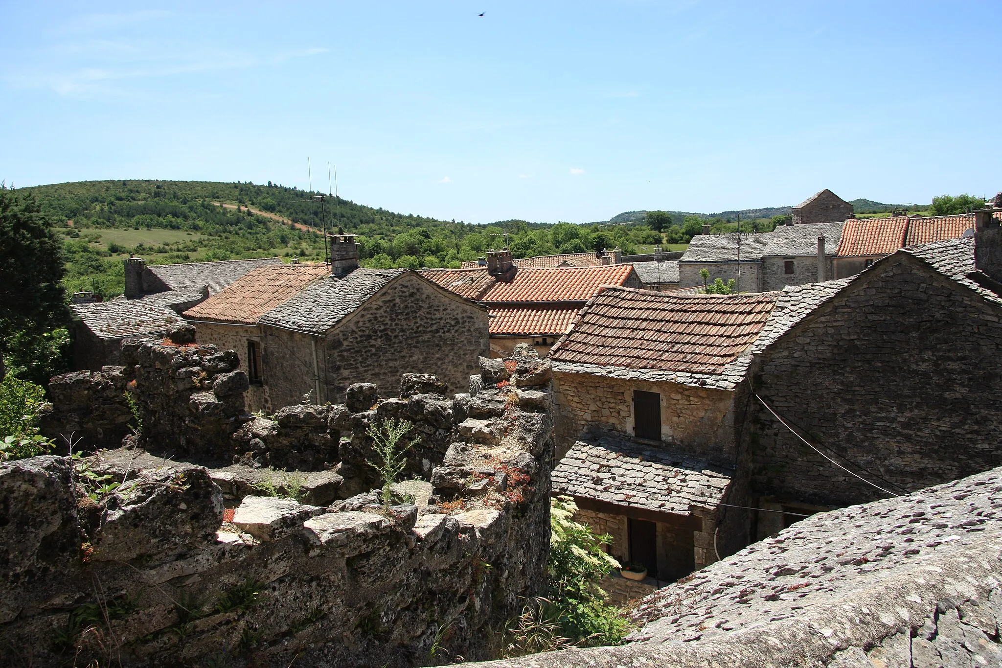
{"label": "lower grey stone slab roof nearest the dark tree at left", "polygon": [[182,318],[178,309],[192,306],[208,296],[204,288],[182,288],[134,299],[111,299],[71,304],[73,313],[100,339],[118,339],[162,333]]}

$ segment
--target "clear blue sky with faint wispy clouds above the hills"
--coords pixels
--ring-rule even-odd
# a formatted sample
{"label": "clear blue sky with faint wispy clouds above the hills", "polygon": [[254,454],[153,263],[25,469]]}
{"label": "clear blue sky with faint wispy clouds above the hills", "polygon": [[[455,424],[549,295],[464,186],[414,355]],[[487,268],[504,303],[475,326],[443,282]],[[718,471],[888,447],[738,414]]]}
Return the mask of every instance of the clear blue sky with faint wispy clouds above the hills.
{"label": "clear blue sky with faint wispy clouds above the hills", "polygon": [[[0,0],[0,178],[586,222],[1002,188],[1002,3]],[[479,12],[486,12],[483,17]]]}

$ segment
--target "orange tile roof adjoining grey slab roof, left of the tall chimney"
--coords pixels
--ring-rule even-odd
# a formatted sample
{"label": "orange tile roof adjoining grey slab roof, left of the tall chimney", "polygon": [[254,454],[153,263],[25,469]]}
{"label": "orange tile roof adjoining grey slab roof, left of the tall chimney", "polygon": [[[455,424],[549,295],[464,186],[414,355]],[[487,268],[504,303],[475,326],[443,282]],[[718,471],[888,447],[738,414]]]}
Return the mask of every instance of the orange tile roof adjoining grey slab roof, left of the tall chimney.
{"label": "orange tile roof adjoining grey slab roof, left of the tall chimney", "polygon": [[184,311],[184,317],[257,324],[262,315],[329,273],[326,264],[277,264],[252,269],[207,300]]}

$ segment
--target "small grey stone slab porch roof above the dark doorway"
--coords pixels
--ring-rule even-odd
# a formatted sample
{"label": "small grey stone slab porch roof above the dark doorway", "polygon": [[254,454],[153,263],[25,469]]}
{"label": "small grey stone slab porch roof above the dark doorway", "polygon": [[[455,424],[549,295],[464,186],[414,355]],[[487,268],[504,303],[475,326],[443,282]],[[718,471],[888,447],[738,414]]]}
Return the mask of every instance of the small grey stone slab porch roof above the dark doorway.
{"label": "small grey stone slab porch roof above the dark doorway", "polygon": [[553,493],[689,515],[689,506],[715,509],[730,475],[689,456],[602,437],[574,444],[553,470]]}

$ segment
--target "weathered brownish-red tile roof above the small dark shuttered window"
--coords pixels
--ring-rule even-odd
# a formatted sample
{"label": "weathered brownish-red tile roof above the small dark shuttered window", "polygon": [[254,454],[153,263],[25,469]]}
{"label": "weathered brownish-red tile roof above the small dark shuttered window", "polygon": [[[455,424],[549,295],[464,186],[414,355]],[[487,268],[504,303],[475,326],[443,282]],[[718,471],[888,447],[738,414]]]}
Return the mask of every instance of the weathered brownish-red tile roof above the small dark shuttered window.
{"label": "weathered brownish-red tile roof above the small dark shuttered window", "polygon": [[550,352],[554,363],[719,375],[759,337],[776,292],[676,294],[609,287]]}

